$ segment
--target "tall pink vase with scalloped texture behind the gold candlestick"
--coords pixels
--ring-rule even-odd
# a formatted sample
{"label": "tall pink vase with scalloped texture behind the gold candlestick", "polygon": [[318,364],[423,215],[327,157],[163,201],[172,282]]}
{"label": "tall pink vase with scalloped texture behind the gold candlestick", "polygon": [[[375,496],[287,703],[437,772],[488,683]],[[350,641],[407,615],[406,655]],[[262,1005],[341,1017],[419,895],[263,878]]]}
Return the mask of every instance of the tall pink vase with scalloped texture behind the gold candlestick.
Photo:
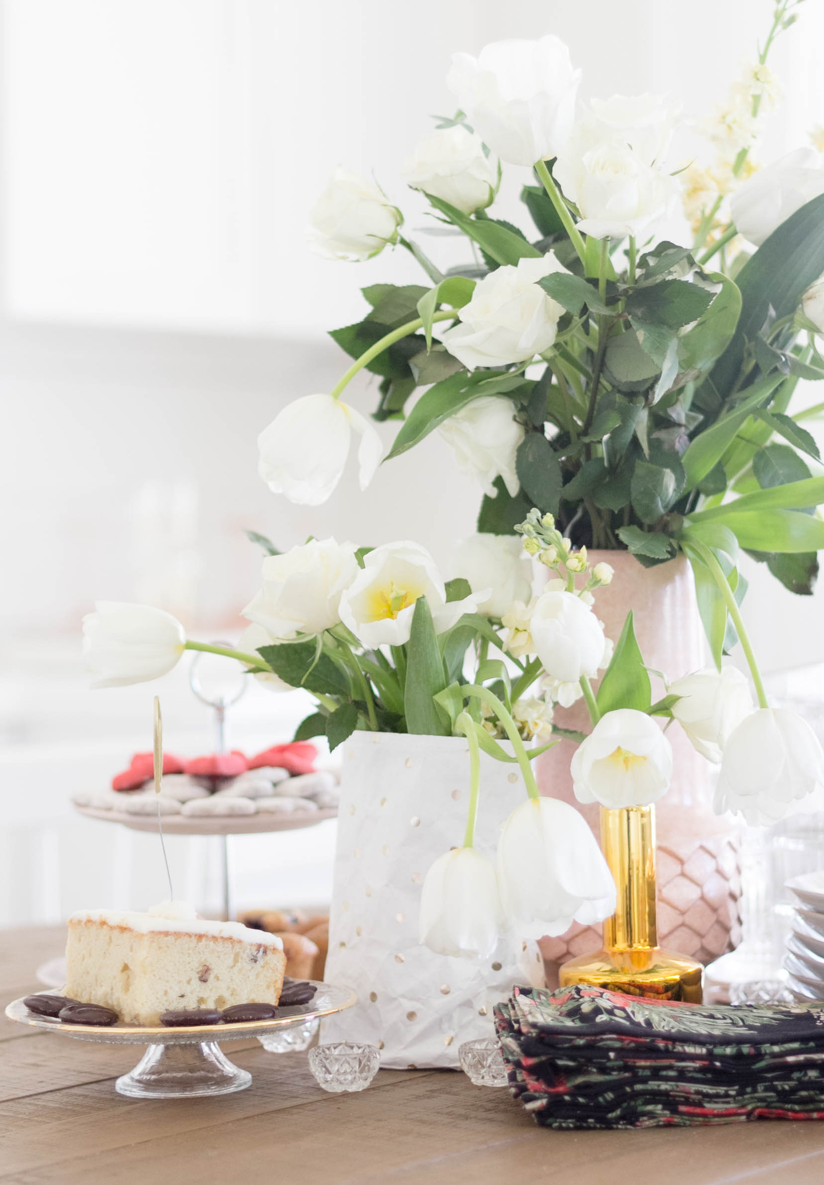
{"label": "tall pink vase with scalloped texture behind the gold candlestick", "polygon": [[[624,620],[633,610],[635,633],[648,667],[678,679],[706,665],[706,642],[695,600],[689,563],[683,556],[655,568],[643,568],[626,551],[591,551],[592,563],[614,569],[612,584],[599,589],[596,613],[607,638],[618,641]],[[664,694],[652,675],[652,697]],[[555,720],[588,731],[582,700],[558,709]],[[740,941],[741,893],[739,832],[729,818],[712,808],[710,767],[685,734],[672,724],[672,784],[656,803],[658,941],[662,947],[702,962],[717,959]],[[598,835],[598,806],[581,806],[572,790],[572,741],[561,741],[539,761],[541,793],[572,803]],[[575,923],[560,939],[542,939],[541,949],[552,979],[566,959],[597,950],[600,927]]]}

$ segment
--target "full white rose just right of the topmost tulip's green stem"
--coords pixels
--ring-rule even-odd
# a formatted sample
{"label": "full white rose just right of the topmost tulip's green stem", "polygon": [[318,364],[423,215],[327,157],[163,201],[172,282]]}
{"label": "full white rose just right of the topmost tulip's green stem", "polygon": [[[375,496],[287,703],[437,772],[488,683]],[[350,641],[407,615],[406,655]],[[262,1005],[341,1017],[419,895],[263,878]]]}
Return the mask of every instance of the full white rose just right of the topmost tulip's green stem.
{"label": "full white rose just right of the topmost tulip's green stem", "polygon": [[559,154],[554,177],[578,206],[578,229],[593,238],[646,235],[674,207],[674,178],[648,165],[630,146],[585,120]]}

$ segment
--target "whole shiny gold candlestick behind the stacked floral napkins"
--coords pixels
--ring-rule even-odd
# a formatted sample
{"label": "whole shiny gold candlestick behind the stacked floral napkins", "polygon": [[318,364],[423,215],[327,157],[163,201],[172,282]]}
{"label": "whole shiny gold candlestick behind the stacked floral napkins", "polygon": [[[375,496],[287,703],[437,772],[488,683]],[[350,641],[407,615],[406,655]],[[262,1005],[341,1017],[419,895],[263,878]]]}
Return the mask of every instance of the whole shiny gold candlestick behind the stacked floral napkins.
{"label": "whole shiny gold candlestick behind the stacked floral napkins", "polygon": [[618,890],[616,911],[604,922],[604,948],[562,965],[561,987],[590,984],[630,995],[701,1004],[701,963],[658,946],[655,807],[601,807],[600,832]]}

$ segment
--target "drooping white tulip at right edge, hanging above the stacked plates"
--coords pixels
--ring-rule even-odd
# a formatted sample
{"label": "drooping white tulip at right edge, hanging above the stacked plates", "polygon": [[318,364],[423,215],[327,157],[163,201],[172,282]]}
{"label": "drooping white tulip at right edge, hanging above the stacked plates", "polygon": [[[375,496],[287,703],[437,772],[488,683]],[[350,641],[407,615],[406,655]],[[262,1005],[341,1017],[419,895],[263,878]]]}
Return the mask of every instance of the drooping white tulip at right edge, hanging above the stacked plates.
{"label": "drooping white tulip at right edge, hanging above the stacked plates", "polygon": [[727,739],[713,806],[770,826],[822,783],[824,752],[807,722],[786,707],[760,707]]}

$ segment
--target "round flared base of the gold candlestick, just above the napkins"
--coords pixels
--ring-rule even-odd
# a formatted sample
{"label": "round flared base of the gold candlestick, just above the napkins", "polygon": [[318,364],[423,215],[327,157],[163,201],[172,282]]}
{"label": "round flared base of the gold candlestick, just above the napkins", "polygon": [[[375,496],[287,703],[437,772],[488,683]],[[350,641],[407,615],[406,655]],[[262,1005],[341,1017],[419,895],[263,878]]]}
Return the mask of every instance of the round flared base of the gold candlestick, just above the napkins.
{"label": "round flared base of the gold candlestick, just above the napkins", "polygon": [[648,950],[598,950],[564,963],[561,987],[587,984],[651,1000],[701,1004],[703,967],[694,959],[651,947]]}

